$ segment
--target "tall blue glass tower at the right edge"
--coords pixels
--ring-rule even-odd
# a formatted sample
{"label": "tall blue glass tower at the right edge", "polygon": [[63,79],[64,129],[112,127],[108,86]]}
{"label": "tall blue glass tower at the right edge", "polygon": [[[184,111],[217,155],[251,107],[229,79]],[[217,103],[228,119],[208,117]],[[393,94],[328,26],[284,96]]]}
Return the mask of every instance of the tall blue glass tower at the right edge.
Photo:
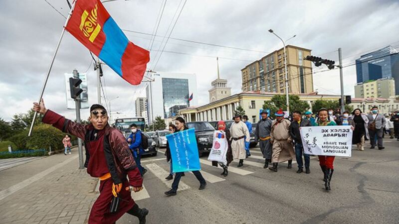
{"label": "tall blue glass tower at the right edge", "polygon": [[395,79],[395,94],[399,95],[399,52],[392,46],[362,55],[356,60],[357,83],[381,78]]}

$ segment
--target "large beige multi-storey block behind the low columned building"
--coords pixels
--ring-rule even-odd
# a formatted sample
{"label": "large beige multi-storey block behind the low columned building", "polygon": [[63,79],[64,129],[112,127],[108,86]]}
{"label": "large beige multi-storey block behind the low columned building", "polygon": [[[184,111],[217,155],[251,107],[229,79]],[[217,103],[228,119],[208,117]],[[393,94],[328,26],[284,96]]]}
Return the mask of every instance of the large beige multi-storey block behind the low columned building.
{"label": "large beige multi-storey block behind the low columned building", "polygon": [[[289,93],[313,92],[312,62],[303,60],[311,50],[287,45]],[[276,50],[241,69],[242,91],[285,93],[284,48]]]}

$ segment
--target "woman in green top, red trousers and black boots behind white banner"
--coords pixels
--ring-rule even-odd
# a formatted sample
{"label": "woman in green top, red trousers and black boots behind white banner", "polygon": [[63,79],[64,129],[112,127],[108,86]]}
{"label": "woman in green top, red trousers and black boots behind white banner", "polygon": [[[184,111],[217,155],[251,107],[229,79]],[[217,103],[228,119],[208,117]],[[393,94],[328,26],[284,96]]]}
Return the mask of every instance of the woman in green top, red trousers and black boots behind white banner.
{"label": "woman in green top, red trousers and black boots behind white banner", "polygon": [[[328,110],[322,108],[318,112],[319,119],[316,122],[316,126],[334,126],[337,125],[334,121],[330,120]],[[334,172],[334,159],[335,156],[323,156],[319,155],[320,167],[324,173],[324,186],[326,191],[330,191],[330,181]]]}

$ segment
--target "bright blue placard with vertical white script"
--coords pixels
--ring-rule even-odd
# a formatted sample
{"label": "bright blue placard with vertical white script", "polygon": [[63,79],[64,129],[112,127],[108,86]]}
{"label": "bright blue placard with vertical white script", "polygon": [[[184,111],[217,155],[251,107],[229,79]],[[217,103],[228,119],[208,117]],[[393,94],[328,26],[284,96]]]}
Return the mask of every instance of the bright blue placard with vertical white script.
{"label": "bright blue placard with vertical white script", "polygon": [[166,135],[172,156],[173,173],[201,170],[195,129]]}

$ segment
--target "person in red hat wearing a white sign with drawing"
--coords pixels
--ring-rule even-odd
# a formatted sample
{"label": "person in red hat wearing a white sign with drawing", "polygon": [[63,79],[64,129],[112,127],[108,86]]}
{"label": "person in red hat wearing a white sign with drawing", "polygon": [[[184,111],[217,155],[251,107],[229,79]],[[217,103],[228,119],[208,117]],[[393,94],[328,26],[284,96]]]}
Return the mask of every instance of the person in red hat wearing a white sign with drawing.
{"label": "person in red hat wearing a white sign with drawing", "polygon": [[220,165],[223,168],[223,175],[228,175],[228,164],[233,161],[233,153],[231,151],[231,133],[226,129],[226,124],[223,120],[217,122],[217,130],[213,135],[212,150],[209,153],[208,160],[212,161],[212,166]]}

